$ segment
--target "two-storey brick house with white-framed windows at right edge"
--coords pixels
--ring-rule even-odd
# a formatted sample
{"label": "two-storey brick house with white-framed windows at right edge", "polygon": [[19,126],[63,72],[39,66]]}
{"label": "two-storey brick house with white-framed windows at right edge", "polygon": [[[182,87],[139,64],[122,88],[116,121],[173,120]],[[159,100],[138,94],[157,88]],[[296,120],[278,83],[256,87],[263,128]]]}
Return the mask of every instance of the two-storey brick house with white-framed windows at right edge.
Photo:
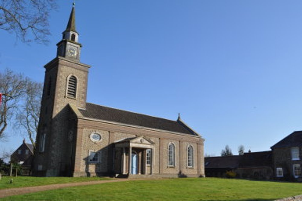
{"label": "two-storey brick house with white-framed windows at right edge", "polygon": [[275,178],[301,177],[302,131],[294,131],[271,147]]}

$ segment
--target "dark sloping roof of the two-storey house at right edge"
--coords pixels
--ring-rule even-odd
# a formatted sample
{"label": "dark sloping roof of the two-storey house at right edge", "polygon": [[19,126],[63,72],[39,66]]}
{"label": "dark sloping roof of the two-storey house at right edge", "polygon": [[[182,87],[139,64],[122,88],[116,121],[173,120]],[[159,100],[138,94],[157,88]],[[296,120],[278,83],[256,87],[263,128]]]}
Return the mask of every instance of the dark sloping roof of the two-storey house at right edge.
{"label": "dark sloping roof of the two-storey house at right edge", "polygon": [[294,131],[292,134],[271,146],[271,149],[282,147],[302,147],[302,131]]}

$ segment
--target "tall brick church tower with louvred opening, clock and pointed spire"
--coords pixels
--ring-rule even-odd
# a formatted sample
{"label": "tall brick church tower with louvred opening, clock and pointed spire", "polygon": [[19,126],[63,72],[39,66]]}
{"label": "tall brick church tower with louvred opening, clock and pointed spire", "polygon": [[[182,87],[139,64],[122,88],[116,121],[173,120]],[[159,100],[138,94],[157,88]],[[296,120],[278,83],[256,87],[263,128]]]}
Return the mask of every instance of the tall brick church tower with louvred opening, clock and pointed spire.
{"label": "tall brick church tower with louvred opening, clock and pointed spire", "polygon": [[33,163],[36,176],[69,176],[72,166],[75,123],[70,107],[86,108],[89,65],[80,63],[81,47],[76,31],[75,4],[69,16],[57,55],[47,63],[37,144]]}

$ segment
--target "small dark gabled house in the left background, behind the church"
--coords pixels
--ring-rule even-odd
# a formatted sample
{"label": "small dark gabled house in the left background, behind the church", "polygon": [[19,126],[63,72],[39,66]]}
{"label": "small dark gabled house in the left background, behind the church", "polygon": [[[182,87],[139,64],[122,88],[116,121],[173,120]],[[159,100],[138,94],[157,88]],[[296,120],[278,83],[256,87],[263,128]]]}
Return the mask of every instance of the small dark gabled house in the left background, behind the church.
{"label": "small dark gabled house in the left background, behind the church", "polygon": [[34,158],[34,146],[23,140],[23,143],[11,154],[11,162],[21,164],[22,174],[29,175],[31,173],[31,164]]}

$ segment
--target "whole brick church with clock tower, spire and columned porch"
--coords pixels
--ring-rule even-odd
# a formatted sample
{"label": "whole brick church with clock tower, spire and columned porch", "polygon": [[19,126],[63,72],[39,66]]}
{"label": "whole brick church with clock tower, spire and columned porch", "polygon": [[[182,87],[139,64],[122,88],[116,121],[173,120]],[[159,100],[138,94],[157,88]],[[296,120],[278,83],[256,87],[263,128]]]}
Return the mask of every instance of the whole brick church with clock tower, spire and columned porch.
{"label": "whole brick church with clock tower, spire and columned porch", "polygon": [[[47,63],[32,174],[42,177],[204,177],[204,138],[176,121],[86,102],[74,4]],[[108,86],[110,87],[110,86]]]}

